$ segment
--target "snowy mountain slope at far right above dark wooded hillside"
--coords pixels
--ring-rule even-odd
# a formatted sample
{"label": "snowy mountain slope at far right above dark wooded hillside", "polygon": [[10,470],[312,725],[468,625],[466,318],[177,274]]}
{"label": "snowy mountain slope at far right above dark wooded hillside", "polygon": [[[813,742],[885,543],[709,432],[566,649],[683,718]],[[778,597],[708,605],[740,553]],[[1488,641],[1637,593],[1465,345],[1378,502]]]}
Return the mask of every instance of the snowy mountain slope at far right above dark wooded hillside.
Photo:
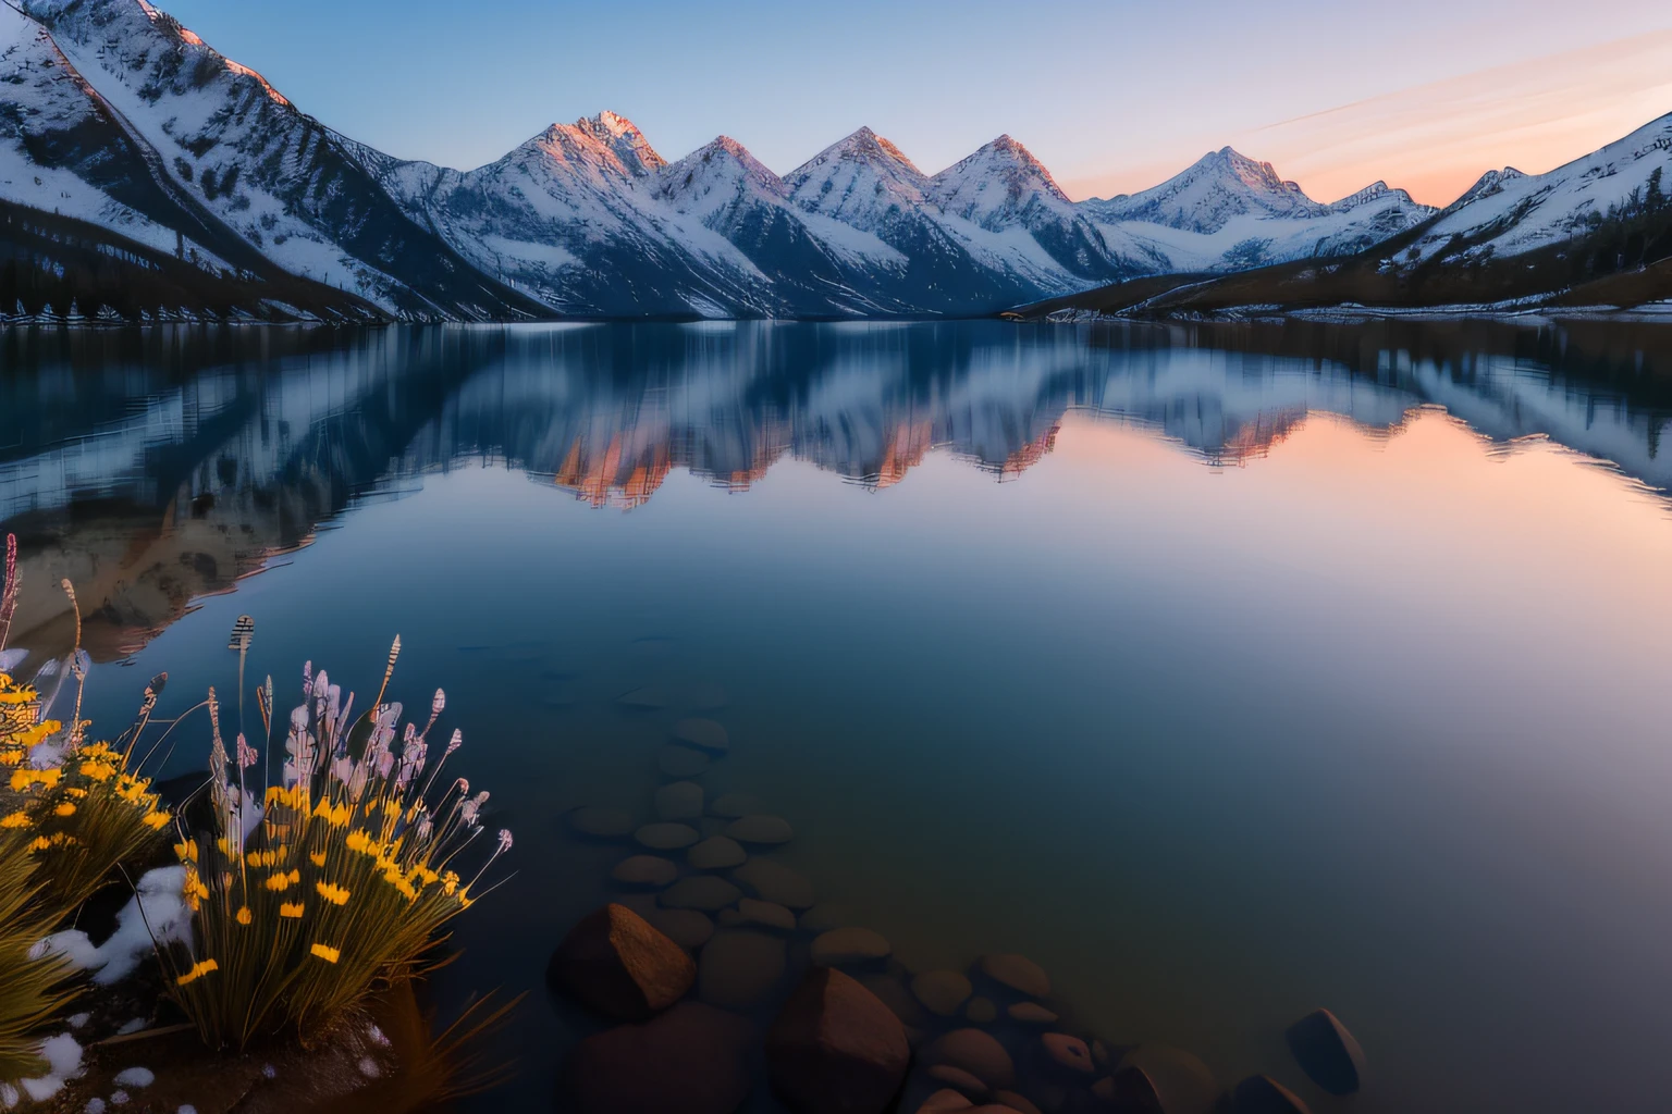
{"label": "snowy mountain slope at far right above dark wooded hillside", "polygon": [[1669,199],[1672,114],[1548,174],[1488,172],[1446,207],[1409,259],[1520,256],[1582,239],[1608,220],[1664,212]]}

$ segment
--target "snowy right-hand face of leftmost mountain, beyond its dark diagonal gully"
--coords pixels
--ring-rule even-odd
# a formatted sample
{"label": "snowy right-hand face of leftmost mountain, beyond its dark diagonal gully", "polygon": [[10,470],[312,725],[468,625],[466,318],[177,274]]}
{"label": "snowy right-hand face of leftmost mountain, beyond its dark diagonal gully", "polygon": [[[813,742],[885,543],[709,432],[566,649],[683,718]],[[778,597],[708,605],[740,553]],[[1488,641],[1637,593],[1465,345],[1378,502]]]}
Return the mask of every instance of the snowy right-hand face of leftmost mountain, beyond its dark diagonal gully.
{"label": "snowy right-hand face of leftmost mountain, beyond its dark diagonal gully", "polygon": [[390,311],[523,309],[406,220],[334,134],[144,0],[25,0],[23,8],[102,117],[140,150],[157,189],[204,224],[291,274]]}

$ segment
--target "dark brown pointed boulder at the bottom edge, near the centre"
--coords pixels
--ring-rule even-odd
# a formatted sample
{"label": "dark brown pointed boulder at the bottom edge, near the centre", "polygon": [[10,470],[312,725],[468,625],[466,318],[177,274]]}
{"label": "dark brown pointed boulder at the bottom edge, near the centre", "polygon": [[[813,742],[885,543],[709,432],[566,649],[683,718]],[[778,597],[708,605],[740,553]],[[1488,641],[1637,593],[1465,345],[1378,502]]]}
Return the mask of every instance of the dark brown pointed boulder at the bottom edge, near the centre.
{"label": "dark brown pointed boulder at the bottom edge, near the centre", "polygon": [[873,1114],[906,1077],[900,1019],[839,970],[813,970],[766,1034],[772,1089],[799,1114]]}

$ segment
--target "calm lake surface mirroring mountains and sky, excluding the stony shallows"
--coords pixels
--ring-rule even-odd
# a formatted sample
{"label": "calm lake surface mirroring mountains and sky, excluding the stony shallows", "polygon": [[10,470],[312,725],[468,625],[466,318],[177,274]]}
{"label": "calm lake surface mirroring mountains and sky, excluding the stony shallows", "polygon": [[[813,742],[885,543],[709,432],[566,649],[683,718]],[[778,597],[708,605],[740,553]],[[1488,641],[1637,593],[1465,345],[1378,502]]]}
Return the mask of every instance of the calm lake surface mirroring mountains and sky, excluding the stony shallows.
{"label": "calm lake surface mirroring mountains and sky, excluding the stony shallows", "polygon": [[[242,613],[283,706],[400,633],[517,832],[438,980],[533,992],[483,1111],[592,1030],[543,967],[625,852],[562,813],[649,817],[721,696],[711,793],[908,967],[1023,952],[1082,1030],[1316,1111],[1662,1111],[1669,332],[0,334],[13,641],[67,648],[74,578],[117,728],[154,671],[236,688]],[[1282,1046],[1318,1005],[1349,1104]]]}

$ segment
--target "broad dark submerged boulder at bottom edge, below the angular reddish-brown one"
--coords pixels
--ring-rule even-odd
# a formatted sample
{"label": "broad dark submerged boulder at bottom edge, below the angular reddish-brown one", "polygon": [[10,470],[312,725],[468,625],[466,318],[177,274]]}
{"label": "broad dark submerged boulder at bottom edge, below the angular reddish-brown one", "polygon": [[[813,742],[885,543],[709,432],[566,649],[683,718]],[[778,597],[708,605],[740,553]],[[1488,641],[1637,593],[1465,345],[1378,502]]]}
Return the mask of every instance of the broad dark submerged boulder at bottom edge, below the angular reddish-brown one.
{"label": "broad dark submerged boulder at bottom edge, below the angular reddish-brown one", "polygon": [[732,1114],[749,1097],[754,1042],[742,1017],[681,1002],[582,1041],[565,1087],[577,1114]]}

